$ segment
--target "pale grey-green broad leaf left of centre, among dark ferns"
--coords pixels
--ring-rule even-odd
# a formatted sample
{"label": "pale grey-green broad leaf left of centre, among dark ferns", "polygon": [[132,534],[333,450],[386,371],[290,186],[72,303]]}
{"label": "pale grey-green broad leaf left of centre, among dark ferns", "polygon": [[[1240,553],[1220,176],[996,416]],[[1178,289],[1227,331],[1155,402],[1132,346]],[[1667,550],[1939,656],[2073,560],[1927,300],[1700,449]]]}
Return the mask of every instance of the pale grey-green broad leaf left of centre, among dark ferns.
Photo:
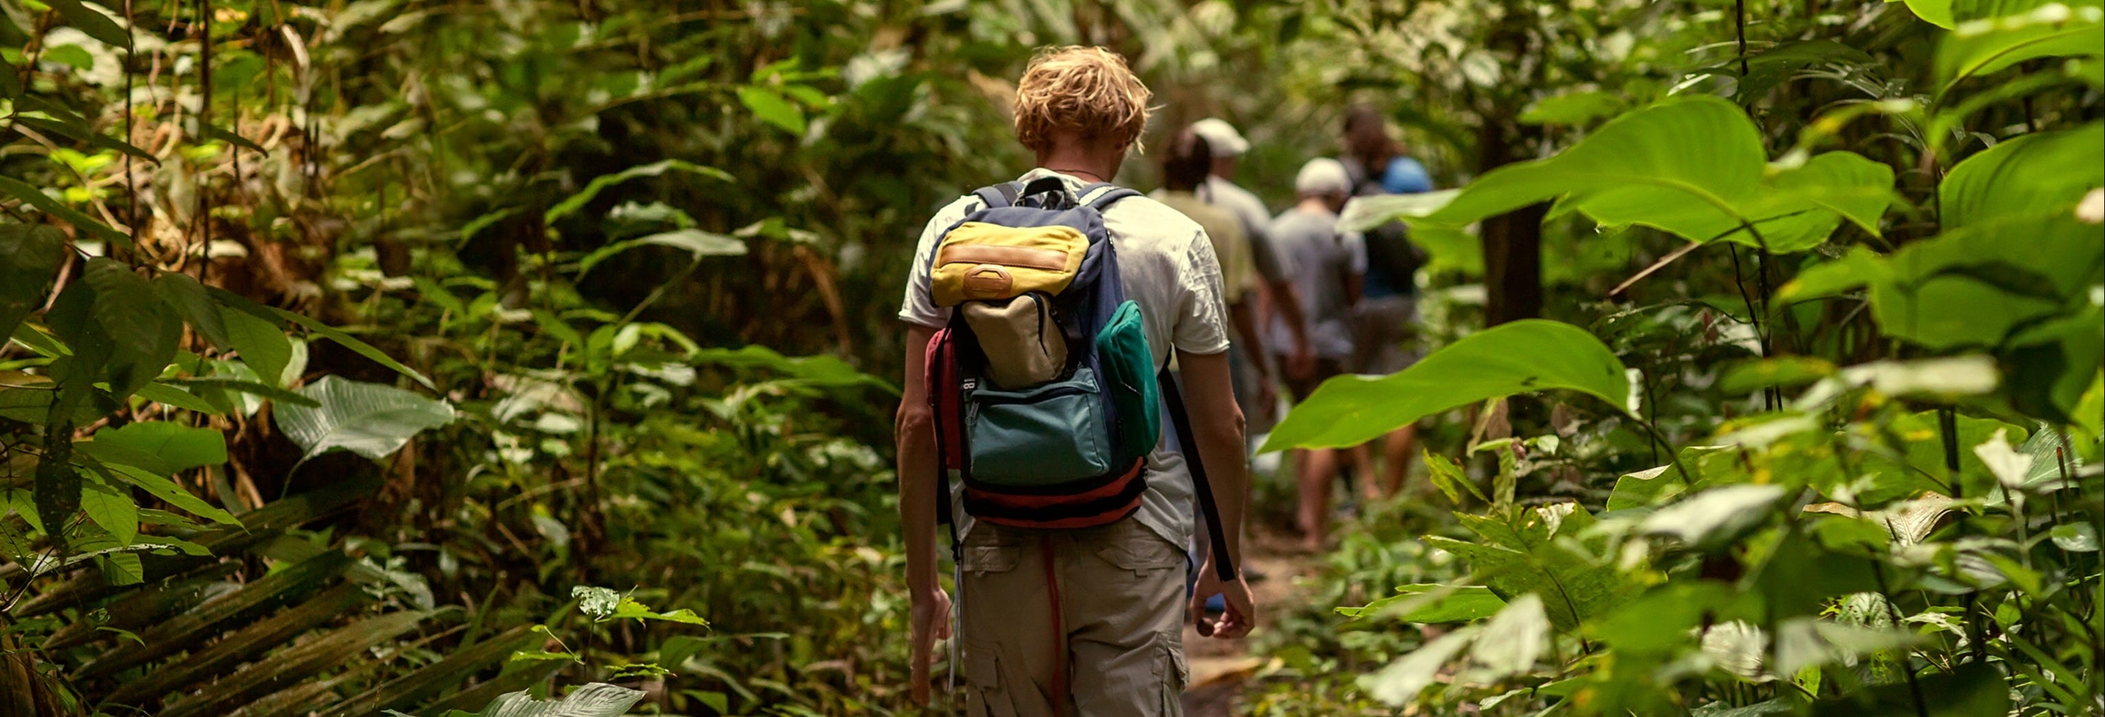
{"label": "pale grey-green broad leaf left of centre, among dark ferns", "polygon": [[425,429],[453,423],[453,404],[389,385],[322,376],[299,389],[322,408],[278,406],[278,429],[314,458],[330,450],[349,450],[366,458],[385,458]]}

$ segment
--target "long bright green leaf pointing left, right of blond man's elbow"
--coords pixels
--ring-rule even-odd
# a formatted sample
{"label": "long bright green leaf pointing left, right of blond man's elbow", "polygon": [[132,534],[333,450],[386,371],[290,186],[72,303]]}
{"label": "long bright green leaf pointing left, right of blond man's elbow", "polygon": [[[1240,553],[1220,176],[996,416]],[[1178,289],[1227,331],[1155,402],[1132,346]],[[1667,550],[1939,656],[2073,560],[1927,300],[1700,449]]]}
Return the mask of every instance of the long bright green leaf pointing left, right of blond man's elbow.
{"label": "long bright green leaf pointing left, right of blond man's elbow", "polygon": [[1396,427],[1499,395],[1570,389],[1627,410],[1623,362],[1583,328],[1522,320],[1469,334],[1398,374],[1324,381],[1261,450],[1358,446]]}

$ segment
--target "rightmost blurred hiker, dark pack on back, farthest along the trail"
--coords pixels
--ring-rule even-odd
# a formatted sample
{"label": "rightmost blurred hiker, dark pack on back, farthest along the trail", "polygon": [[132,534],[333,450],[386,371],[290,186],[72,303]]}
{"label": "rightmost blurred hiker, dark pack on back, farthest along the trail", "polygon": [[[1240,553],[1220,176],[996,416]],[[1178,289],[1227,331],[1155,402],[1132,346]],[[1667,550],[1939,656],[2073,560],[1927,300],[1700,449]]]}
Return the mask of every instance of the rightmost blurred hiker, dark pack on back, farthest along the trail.
{"label": "rightmost blurred hiker, dark pack on back, farthest along the trail", "polygon": [[[1431,177],[1404,145],[1389,135],[1389,124],[1370,105],[1345,114],[1345,158],[1354,196],[1431,191]],[[1345,370],[1356,374],[1394,374],[1417,362],[1419,267],[1425,252],[1410,244],[1410,229],[1400,221],[1366,231],[1366,301],[1354,309],[1354,355]],[[1417,450],[1417,425],[1381,437],[1381,471],[1368,463],[1366,446],[1354,450],[1366,479],[1360,488],[1368,498],[1394,496],[1410,471]]]}

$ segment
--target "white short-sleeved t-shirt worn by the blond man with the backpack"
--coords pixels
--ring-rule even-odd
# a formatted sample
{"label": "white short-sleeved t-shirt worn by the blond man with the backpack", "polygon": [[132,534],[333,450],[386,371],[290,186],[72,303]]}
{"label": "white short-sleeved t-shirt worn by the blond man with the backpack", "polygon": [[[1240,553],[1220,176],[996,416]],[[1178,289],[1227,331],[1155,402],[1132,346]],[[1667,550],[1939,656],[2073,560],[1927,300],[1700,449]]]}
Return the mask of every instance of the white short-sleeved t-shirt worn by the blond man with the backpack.
{"label": "white short-sleeved t-shirt worn by the blond man with the backpack", "polygon": [[[1017,181],[1027,183],[1040,177],[1059,177],[1076,191],[1088,185],[1048,168],[1034,168]],[[937,307],[928,294],[928,257],[941,233],[977,208],[979,198],[964,196],[928,219],[920,244],[914,248],[914,271],[899,307],[901,320],[920,326],[949,322],[951,309]],[[1145,328],[1147,347],[1154,351],[1158,368],[1168,362],[1172,347],[1189,353],[1227,351],[1221,263],[1198,223],[1162,202],[1124,198],[1103,212],[1103,229],[1118,250],[1120,286],[1126,290],[1126,299],[1141,305],[1141,328]],[[1147,492],[1141,496],[1141,511],[1135,517],[1164,540],[1189,545],[1191,475],[1183,467],[1183,456],[1166,448],[1170,433],[1164,410],[1164,442],[1147,456]],[[951,484],[951,498],[962,536],[973,530],[970,515],[964,515],[962,484]]]}

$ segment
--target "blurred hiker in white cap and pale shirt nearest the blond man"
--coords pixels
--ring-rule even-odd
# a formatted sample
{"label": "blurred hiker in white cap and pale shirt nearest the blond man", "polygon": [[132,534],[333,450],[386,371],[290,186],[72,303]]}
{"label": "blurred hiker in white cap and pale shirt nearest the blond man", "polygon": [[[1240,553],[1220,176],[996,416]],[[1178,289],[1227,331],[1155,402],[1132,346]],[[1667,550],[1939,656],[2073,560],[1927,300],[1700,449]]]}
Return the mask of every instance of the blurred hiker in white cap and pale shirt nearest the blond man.
{"label": "blurred hiker in white cap and pale shirt nearest the blond man", "polygon": [[[1307,374],[1314,368],[1314,351],[1309,347],[1305,309],[1301,292],[1295,290],[1295,284],[1280,267],[1278,246],[1271,244],[1271,210],[1250,189],[1236,185],[1236,162],[1244,151],[1250,151],[1250,141],[1242,139],[1242,132],[1221,118],[1191,122],[1191,132],[1204,137],[1206,145],[1212,147],[1212,172],[1206,177],[1200,198],[1242,219],[1242,231],[1250,238],[1252,267],[1265,284],[1265,299],[1286,322],[1286,339],[1290,341],[1274,345],[1284,349],[1286,362],[1282,362],[1282,368],[1286,368],[1286,374]],[[1250,433],[1269,429],[1265,418],[1269,418],[1271,406],[1255,406],[1255,412],[1250,408],[1244,406],[1244,414],[1252,423]]]}

